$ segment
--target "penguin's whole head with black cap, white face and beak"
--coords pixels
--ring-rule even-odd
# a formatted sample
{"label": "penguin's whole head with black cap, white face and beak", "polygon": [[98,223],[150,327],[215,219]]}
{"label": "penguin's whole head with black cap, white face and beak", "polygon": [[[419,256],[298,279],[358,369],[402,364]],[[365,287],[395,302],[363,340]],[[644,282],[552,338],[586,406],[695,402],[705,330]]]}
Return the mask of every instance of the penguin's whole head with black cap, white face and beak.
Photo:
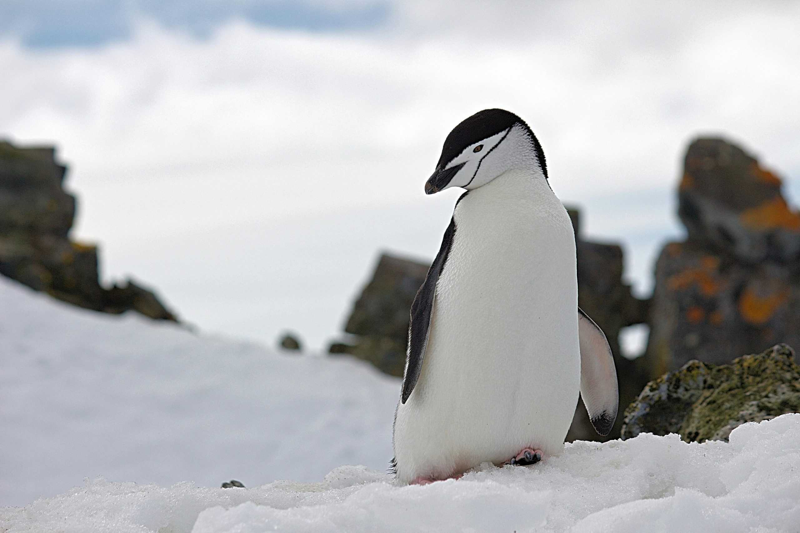
{"label": "penguin's whole head with black cap, white face and beak", "polygon": [[505,109],[484,109],[466,118],[445,139],[425,193],[450,187],[478,189],[506,170],[534,168],[547,179],[542,145],[522,118]]}

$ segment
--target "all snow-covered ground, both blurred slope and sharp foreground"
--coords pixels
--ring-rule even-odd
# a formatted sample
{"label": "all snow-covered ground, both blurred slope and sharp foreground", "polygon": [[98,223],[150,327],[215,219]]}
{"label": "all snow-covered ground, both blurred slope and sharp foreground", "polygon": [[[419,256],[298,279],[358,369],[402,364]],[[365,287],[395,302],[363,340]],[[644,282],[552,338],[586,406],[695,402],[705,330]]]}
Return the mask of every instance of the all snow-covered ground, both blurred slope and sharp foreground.
{"label": "all snow-covered ground, both blurred slope and sharp foreground", "polygon": [[[384,471],[398,380],[356,361],[83,312],[2,278],[0,353],[0,505],[26,506],[0,508],[0,533],[800,531],[800,415],[730,443],[577,442],[400,487]],[[218,488],[230,478],[251,488]]]}

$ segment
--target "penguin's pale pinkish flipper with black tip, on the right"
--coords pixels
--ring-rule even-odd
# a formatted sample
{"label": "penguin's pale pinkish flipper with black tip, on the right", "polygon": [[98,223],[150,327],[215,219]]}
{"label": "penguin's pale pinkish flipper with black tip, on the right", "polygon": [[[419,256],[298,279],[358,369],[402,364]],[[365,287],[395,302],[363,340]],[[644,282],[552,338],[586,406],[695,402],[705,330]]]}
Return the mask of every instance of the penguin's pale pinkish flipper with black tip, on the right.
{"label": "penguin's pale pinkish flipper with black tip, on the right", "polygon": [[578,308],[581,345],[581,397],[594,431],[606,436],[617,419],[617,369],[606,335],[582,308]]}

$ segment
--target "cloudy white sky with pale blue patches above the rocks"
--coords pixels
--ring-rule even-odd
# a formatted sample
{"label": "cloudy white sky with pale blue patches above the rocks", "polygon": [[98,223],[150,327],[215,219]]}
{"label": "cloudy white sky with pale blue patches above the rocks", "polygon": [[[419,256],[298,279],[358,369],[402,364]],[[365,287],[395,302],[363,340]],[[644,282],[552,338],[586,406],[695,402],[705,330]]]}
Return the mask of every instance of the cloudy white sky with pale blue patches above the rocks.
{"label": "cloudy white sky with pale blue patches above the rocks", "polygon": [[694,137],[800,199],[800,2],[0,0],[0,72],[0,137],[58,147],[103,279],[266,344],[325,349],[379,253],[434,257],[458,192],[422,185],[479,109],[640,295]]}

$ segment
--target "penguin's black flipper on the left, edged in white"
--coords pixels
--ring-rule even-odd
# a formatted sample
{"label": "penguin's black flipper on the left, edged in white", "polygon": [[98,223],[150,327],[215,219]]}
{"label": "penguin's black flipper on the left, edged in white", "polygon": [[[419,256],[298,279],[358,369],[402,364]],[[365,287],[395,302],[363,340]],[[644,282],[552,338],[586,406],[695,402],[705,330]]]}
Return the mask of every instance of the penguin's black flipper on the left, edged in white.
{"label": "penguin's black flipper on the left, edged in white", "polygon": [[445,230],[442,238],[442,246],[436,254],[434,264],[430,265],[425,282],[419,288],[417,296],[414,296],[414,304],[411,304],[411,322],[408,328],[408,350],[406,351],[406,372],[402,380],[401,401],[406,403],[414,385],[419,379],[419,372],[422,372],[422,359],[425,357],[425,350],[428,346],[428,334],[430,332],[430,317],[434,314],[434,296],[436,296],[436,283],[442,274],[447,256],[450,254],[450,247],[453,245],[455,236],[455,220],[450,219],[450,225]]}

